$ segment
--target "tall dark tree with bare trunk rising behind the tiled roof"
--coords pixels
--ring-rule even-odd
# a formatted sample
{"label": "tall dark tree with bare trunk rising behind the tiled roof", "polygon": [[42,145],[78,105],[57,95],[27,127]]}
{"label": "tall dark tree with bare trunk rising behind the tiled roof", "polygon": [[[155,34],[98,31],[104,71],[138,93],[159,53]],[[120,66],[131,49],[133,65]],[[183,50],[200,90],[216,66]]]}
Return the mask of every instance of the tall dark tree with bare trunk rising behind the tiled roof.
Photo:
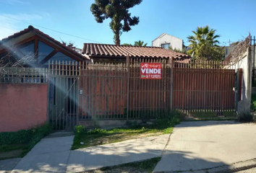
{"label": "tall dark tree with bare trunk rising behind the tiled roof", "polygon": [[131,26],[140,22],[139,17],[131,17],[129,9],[141,2],[142,0],[95,0],[95,4],[90,6],[90,11],[98,23],[111,18],[109,26],[114,32],[114,42],[120,45],[121,33],[132,30]]}

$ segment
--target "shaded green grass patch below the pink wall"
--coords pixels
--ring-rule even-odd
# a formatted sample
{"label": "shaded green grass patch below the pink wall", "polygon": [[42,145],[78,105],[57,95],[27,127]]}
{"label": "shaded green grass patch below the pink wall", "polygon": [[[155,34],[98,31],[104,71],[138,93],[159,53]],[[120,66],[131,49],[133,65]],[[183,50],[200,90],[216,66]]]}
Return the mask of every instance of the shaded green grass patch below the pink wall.
{"label": "shaded green grass patch below the pink wall", "polygon": [[51,125],[46,123],[27,130],[0,133],[0,160],[25,156],[50,132]]}

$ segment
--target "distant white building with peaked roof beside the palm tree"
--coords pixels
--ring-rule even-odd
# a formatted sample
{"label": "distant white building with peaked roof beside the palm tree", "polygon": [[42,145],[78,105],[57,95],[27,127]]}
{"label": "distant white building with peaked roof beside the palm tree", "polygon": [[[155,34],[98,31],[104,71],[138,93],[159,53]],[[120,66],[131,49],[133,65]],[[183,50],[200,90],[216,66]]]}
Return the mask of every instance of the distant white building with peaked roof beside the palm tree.
{"label": "distant white building with peaked roof beside the palm tree", "polygon": [[152,41],[152,46],[165,49],[168,49],[171,46],[173,49],[176,48],[178,50],[182,50],[183,40],[178,37],[163,33]]}

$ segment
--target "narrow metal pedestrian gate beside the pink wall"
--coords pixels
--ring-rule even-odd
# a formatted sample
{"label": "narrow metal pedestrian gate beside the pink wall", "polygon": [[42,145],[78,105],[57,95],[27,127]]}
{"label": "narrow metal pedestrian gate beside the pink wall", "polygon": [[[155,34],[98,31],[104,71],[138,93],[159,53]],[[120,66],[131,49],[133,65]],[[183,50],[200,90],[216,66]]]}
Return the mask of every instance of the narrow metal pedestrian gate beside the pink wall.
{"label": "narrow metal pedestrian gate beside the pink wall", "polygon": [[59,64],[49,66],[48,120],[54,130],[73,130],[78,119],[79,70],[74,63]]}

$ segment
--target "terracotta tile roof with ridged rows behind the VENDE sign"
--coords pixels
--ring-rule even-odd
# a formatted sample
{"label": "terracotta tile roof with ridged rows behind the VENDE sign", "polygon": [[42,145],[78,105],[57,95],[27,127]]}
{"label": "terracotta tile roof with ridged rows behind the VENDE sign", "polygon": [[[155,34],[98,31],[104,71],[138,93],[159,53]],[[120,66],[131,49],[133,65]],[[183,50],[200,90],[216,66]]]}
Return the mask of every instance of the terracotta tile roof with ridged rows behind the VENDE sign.
{"label": "terracotta tile roof with ridged rows behind the VENDE sign", "polygon": [[84,43],[82,53],[88,56],[124,56],[138,58],[190,58],[183,53],[176,53],[173,50],[167,50],[158,47],[140,47],[132,45],[104,45],[94,43]]}

